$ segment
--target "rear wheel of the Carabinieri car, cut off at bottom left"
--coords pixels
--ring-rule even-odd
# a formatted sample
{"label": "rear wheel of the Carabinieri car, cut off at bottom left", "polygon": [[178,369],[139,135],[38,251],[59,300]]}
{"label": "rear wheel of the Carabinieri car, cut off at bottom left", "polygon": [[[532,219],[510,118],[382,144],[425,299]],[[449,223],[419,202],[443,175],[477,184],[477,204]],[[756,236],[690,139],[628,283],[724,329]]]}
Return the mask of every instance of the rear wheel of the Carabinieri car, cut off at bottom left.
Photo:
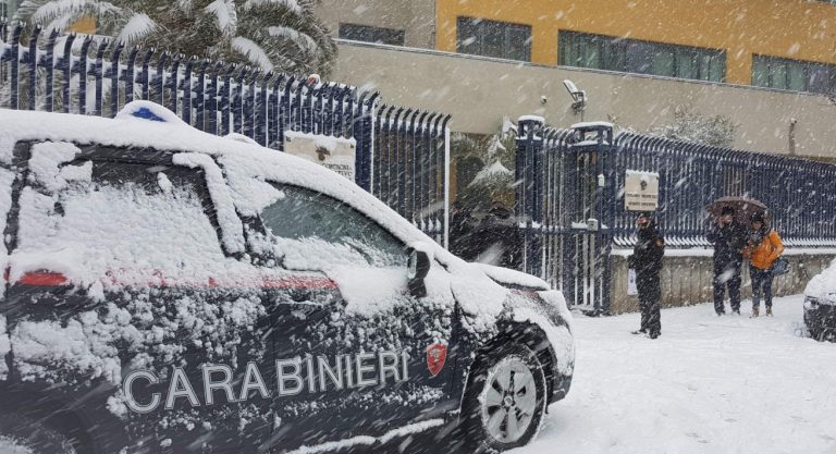
{"label": "rear wheel of the Carabinieri car, cut off at bottom left", "polygon": [[24,416],[9,414],[0,414],[0,452],[76,454],[72,441],[61,432]]}

